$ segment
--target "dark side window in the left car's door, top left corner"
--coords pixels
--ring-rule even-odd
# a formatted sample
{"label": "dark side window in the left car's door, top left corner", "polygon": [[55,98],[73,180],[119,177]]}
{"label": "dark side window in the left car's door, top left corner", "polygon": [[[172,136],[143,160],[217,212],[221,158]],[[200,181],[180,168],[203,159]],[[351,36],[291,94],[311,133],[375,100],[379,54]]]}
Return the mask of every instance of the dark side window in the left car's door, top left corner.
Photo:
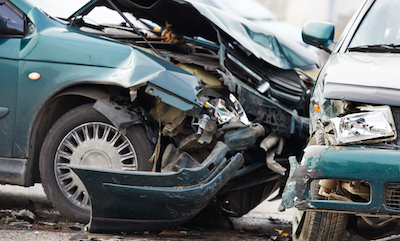
{"label": "dark side window in the left car's door, top left corner", "polygon": [[0,38],[24,35],[24,14],[8,1],[0,1]]}

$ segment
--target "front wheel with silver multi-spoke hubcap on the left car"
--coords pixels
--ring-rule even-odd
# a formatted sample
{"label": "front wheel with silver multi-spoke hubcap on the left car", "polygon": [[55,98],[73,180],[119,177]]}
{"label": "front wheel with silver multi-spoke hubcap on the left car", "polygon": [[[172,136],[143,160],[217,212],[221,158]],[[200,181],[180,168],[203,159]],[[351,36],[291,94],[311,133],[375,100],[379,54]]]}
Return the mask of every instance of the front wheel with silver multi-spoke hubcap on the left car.
{"label": "front wheel with silver multi-spoke hubcap on the left car", "polygon": [[40,152],[42,185],[53,206],[67,218],[88,222],[90,201],[82,181],[67,164],[113,170],[150,171],[153,145],[142,126],[120,134],[93,104],[76,107],[58,119]]}

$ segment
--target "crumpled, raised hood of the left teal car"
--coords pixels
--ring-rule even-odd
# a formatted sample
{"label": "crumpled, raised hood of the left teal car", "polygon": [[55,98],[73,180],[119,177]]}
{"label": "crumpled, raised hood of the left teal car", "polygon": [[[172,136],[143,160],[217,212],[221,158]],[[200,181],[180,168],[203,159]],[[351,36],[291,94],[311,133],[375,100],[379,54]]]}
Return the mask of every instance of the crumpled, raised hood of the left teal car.
{"label": "crumpled, raised hood of the left teal car", "polygon": [[160,26],[168,22],[175,32],[186,36],[202,36],[218,43],[216,28],[221,35],[230,36],[257,58],[281,69],[319,65],[318,56],[303,46],[208,5],[183,0],[114,2],[122,11],[151,19]]}

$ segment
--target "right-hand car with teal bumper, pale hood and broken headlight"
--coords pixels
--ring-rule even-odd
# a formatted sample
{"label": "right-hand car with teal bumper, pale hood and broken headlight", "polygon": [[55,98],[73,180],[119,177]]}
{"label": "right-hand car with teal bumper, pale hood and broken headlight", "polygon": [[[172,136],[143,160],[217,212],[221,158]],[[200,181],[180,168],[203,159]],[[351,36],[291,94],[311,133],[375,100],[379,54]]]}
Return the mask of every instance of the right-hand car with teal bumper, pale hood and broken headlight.
{"label": "right-hand car with teal bumper, pale hood and broken headlight", "polygon": [[[399,230],[399,13],[399,1],[365,1],[319,73],[311,137],[301,163],[291,161],[280,207],[297,208],[294,240]],[[330,23],[303,27],[306,43],[328,51],[333,35]]]}

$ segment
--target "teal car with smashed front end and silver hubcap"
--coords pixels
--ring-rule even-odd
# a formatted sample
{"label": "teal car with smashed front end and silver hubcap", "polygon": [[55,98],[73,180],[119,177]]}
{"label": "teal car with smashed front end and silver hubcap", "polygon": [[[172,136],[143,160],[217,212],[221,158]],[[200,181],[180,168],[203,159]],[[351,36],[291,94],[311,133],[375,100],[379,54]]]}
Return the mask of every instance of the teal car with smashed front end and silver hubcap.
{"label": "teal car with smashed front end and silver hubcap", "polygon": [[[60,11],[61,10],[61,11]],[[178,0],[0,1],[0,183],[90,230],[241,216],[308,137],[317,56]]]}

